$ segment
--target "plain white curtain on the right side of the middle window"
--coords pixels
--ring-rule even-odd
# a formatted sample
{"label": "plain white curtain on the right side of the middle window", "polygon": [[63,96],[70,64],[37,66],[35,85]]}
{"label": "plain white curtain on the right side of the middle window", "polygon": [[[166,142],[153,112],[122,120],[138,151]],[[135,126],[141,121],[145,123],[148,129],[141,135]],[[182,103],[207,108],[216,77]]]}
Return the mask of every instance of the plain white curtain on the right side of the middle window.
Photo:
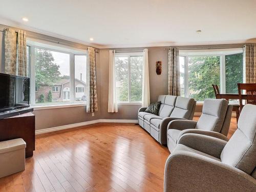
{"label": "plain white curtain on the right side of the middle window", "polygon": [[148,72],[148,50],[143,50],[143,74],[142,74],[142,102],[145,107],[150,104],[150,75]]}

